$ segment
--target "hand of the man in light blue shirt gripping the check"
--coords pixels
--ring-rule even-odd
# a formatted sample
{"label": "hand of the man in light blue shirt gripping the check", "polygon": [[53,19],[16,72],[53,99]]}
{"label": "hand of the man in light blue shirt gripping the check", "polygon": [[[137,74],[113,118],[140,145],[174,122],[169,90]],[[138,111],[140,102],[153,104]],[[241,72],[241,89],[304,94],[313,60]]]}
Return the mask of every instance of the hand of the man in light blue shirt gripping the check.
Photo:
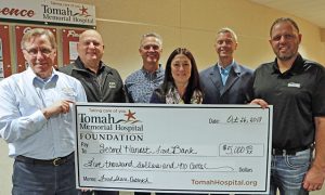
{"label": "hand of the man in light blue shirt gripping the check", "polygon": [[74,103],[69,100],[61,100],[55,102],[52,106],[43,108],[42,113],[47,119],[49,119],[53,115],[66,114],[70,110],[70,103]]}

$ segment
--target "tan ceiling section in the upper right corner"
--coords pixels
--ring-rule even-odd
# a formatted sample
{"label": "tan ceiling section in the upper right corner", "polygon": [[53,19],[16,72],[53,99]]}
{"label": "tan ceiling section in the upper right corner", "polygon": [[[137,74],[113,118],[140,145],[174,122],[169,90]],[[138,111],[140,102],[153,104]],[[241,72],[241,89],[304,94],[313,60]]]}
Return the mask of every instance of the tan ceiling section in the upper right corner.
{"label": "tan ceiling section in the upper right corner", "polygon": [[324,0],[250,0],[303,18],[325,29]]}

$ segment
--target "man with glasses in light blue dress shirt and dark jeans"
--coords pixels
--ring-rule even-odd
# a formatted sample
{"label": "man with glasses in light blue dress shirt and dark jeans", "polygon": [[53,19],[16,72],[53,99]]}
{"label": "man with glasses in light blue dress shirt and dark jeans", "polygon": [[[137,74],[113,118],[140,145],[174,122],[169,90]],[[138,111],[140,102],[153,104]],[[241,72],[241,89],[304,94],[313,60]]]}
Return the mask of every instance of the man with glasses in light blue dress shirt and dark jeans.
{"label": "man with glasses in light blue dress shirt and dark jeans", "polygon": [[0,82],[0,135],[9,144],[14,195],[77,194],[72,105],[81,83],[53,68],[55,37],[35,28],[22,39],[29,67]]}

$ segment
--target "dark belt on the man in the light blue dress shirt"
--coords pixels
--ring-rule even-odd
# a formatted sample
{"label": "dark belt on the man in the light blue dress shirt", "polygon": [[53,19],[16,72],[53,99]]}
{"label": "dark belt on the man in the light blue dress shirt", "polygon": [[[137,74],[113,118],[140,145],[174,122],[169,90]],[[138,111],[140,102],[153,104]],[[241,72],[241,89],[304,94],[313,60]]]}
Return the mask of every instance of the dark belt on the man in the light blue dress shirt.
{"label": "dark belt on the man in the light blue dress shirt", "polygon": [[72,161],[73,159],[74,159],[74,153],[64,157],[57,157],[57,158],[47,159],[47,160],[29,158],[22,155],[15,157],[15,160],[26,162],[26,164],[47,165],[47,166],[55,166],[55,167],[62,166],[68,161]]}

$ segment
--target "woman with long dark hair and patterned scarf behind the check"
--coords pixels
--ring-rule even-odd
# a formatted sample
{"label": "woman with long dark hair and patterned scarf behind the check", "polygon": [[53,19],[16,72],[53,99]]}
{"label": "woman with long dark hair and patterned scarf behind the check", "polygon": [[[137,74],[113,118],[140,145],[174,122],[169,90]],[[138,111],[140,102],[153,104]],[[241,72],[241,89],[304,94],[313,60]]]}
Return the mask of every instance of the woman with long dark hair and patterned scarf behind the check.
{"label": "woman with long dark hair and patterned scarf behind the check", "polygon": [[153,92],[151,103],[200,104],[202,102],[203,93],[194,56],[187,49],[178,48],[168,57],[165,80]]}

